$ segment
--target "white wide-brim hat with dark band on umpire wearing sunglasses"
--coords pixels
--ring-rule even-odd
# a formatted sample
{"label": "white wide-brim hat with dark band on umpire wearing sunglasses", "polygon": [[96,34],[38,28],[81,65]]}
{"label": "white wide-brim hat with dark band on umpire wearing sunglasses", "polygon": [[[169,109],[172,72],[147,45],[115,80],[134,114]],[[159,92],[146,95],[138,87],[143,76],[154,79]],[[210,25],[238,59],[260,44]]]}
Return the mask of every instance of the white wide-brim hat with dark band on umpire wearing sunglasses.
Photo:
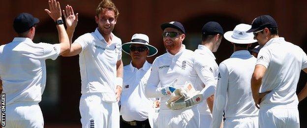
{"label": "white wide-brim hat with dark band on umpire wearing sunglasses", "polygon": [[130,45],[131,44],[142,44],[148,47],[149,54],[147,57],[154,56],[158,50],[149,44],[149,37],[146,34],[134,34],[130,42],[126,42],[122,45],[123,52],[130,55]]}

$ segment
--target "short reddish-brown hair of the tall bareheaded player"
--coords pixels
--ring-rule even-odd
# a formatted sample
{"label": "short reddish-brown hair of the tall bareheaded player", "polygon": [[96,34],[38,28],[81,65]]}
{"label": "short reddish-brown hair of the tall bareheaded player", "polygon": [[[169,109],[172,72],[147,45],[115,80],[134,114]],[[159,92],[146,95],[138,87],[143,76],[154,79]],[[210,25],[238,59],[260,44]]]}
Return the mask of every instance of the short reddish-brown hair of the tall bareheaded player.
{"label": "short reddish-brown hair of the tall bareheaded player", "polygon": [[98,17],[101,11],[112,10],[115,14],[115,19],[119,16],[119,11],[112,0],[102,0],[96,8],[96,16]]}

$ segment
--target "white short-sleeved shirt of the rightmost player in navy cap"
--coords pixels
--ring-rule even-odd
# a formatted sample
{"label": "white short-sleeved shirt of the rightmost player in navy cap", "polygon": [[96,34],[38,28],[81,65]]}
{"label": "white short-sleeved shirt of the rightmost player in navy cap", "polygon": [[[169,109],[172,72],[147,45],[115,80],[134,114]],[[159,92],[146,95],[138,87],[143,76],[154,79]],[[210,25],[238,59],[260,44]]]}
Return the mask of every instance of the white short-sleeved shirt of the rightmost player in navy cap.
{"label": "white short-sleeved shirt of the rightmost player in navy cap", "polygon": [[262,98],[260,108],[297,108],[296,88],[301,70],[307,68],[306,53],[283,37],[272,38],[260,50],[257,64],[267,68],[260,92],[272,90]]}

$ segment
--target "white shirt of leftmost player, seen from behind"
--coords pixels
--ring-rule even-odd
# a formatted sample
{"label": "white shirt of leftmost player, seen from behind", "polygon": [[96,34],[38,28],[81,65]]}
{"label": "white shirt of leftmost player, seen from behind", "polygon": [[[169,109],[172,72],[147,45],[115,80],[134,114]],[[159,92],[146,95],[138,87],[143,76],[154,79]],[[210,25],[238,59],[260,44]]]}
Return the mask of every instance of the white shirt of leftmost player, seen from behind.
{"label": "white shirt of leftmost player, seen from behind", "polygon": [[56,60],[60,44],[33,43],[15,37],[0,46],[0,77],[6,105],[17,102],[38,103],[46,85],[45,60]]}

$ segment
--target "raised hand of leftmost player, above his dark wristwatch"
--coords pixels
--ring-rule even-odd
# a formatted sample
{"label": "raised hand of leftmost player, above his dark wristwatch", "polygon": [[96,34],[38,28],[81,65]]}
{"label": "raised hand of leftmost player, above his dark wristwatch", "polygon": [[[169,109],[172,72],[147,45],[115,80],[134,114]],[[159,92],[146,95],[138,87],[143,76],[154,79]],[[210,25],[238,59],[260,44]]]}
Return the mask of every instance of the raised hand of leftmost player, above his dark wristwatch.
{"label": "raised hand of leftmost player, above his dark wristwatch", "polygon": [[62,19],[62,13],[61,13],[61,6],[60,2],[57,2],[57,0],[49,0],[49,9],[45,9],[47,14],[56,22],[57,20]]}

